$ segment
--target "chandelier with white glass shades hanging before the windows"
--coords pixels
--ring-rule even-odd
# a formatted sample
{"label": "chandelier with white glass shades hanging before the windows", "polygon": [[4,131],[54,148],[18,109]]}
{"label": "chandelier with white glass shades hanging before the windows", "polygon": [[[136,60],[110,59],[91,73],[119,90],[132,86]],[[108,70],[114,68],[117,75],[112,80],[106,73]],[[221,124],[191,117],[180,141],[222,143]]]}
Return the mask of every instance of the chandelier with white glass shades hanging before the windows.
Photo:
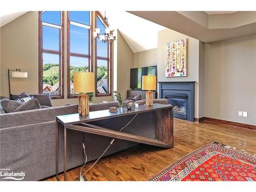
{"label": "chandelier with white glass shades hanging before the windows", "polygon": [[103,25],[105,27],[105,32],[100,34],[101,29],[95,28],[95,31],[93,32],[94,39],[99,39],[104,43],[111,44],[114,40],[116,40],[116,36],[114,36],[113,34],[114,30],[111,30],[108,27],[108,18],[106,18],[106,12],[104,16]]}

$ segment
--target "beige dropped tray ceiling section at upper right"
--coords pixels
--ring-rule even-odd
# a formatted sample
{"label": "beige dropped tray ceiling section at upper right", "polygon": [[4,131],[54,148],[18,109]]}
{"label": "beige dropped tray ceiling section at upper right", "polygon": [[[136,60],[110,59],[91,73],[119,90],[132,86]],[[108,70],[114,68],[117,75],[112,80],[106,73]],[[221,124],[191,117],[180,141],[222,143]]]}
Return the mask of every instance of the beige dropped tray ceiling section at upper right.
{"label": "beige dropped tray ceiling section at upper right", "polygon": [[256,34],[256,11],[129,11],[166,28],[211,43]]}

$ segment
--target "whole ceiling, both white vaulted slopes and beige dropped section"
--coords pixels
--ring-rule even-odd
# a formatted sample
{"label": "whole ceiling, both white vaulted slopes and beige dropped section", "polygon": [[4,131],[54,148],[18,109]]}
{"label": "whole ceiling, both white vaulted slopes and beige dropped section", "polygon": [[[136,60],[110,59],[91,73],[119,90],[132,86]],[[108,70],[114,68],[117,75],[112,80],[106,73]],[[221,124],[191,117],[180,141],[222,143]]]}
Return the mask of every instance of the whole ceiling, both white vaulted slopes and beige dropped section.
{"label": "whole ceiling, both white vaulted slopes and beige dropped section", "polygon": [[[1,13],[0,26],[26,13]],[[169,28],[203,42],[256,34],[256,11],[106,11],[134,53],[157,48],[158,32]]]}

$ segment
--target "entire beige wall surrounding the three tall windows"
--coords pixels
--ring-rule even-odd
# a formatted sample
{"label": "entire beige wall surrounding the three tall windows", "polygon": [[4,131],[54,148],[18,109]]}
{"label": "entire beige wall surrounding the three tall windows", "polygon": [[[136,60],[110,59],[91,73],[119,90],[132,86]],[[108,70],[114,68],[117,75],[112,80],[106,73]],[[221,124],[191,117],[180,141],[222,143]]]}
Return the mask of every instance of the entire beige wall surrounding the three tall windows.
{"label": "entire beige wall surrounding the three tall windows", "polygon": [[[67,16],[65,12],[65,45],[67,45]],[[1,96],[8,96],[7,69],[22,69],[28,72],[28,78],[11,78],[11,90],[13,94],[26,92],[29,94],[38,93],[38,12],[30,11],[9,24],[1,27]],[[120,35],[119,35],[120,36]],[[126,42],[120,36],[117,53],[120,66],[118,71],[118,89],[126,98],[126,90],[130,89],[130,70],[125,66],[133,66],[133,53]],[[93,48],[95,49],[95,48]],[[63,104],[75,104],[77,98],[67,98],[67,46],[65,46],[65,89],[64,99],[52,99],[54,106]],[[131,54],[132,53],[132,54]],[[115,59],[113,59],[114,62]],[[117,61],[116,61],[117,62]],[[95,58],[93,58],[95,63]],[[113,63],[114,64],[114,63]],[[116,63],[118,65],[118,63]],[[94,66],[95,68],[95,66]],[[130,68],[130,67],[129,67]],[[128,68],[128,69],[129,69]],[[95,71],[95,70],[94,70]],[[112,72],[114,72],[112,68]],[[112,73],[115,76],[114,73]],[[113,81],[114,78],[112,78]],[[113,83],[112,83],[113,84]],[[113,85],[114,86],[114,85]],[[124,91],[125,90],[125,91]],[[92,102],[113,101],[113,96],[94,97]]]}

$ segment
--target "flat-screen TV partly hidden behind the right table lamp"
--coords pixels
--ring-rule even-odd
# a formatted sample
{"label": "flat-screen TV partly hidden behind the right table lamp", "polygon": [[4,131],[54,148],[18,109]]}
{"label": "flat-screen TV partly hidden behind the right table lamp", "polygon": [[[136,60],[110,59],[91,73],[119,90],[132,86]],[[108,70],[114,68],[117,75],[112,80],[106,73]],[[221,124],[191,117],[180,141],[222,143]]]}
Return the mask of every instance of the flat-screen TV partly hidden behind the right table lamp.
{"label": "flat-screen TV partly hidden behind the right table lamp", "polygon": [[148,74],[157,76],[157,66],[132,68],[130,73],[130,88],[132,90],[141,90],[142,76]]}

